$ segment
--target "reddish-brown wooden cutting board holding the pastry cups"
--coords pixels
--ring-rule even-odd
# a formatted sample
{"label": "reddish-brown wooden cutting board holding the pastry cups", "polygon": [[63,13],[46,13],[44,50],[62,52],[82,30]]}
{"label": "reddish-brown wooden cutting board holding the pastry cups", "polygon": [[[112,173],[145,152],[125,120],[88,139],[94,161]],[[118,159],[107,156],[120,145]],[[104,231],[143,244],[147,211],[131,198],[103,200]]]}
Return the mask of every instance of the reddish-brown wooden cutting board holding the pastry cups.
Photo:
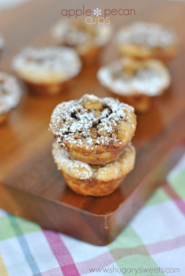
{"label": "reddish-brown wooden cutting board holding the pastry cups", "polygon": [[[92,1],[91,1],[92,2]],[[25,91],[7,124],[0,128],[0,207],[95,245],[110,243],[130,221],[178,160],[171,149],[185,137],[185,33],[183,2],[86,1],[86,8],[134,8],[135,16],[111,16],[117,30],[134,20],[173,26],[180,37],[179,56],[169,63],[172,86],[149,113],[138,115],[133,139],[137,158],[134,170],[112,195],[84,197],[65,184],[51,155],[52,134],[48,124],[53,108],[84,93],[109,95],[96,79],[100,65],[83,68],[71,90],[54,98],[39,98]],[[82,3],[82,4],[81,4]],[[124,5],[123,5],[124,4]],[[22,46],[52,45],[50,26],[61,18],[62,9],[80,9],[83,1],[33,0],[0,12],[0,31],[6,48],[0,70],[12,73],[10,62]],[[124,6],[124,7],[123,7]],[[100,64],[117,58],[111,43]]]}

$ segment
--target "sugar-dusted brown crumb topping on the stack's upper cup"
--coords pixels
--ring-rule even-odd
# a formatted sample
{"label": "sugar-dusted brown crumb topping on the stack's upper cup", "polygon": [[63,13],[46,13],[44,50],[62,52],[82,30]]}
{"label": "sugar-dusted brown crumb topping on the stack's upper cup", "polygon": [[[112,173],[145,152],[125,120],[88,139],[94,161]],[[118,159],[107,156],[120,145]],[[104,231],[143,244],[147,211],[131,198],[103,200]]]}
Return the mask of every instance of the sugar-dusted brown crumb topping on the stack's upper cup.
{"label": "sugar-dusted brown crumb topping on the stack's upper cup", "polygon": [[[118,124],[122,121],[131,124],[133,112],[133,107],[116,99],[85,94],[79,100],[57,105],[51,115],[50,130],[64,149],[74,144],[87,149],[122,144]],[[131,128],[135,125],[131,124]]]}

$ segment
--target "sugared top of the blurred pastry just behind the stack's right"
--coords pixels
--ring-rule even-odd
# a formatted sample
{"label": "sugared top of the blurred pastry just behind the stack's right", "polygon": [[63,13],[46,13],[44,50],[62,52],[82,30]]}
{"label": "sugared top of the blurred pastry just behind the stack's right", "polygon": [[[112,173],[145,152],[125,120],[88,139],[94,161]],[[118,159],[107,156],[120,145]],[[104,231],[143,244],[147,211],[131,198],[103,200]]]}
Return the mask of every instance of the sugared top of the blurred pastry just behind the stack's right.
{"label": "sugared top of the blurred pastry just behind the stack's right", "polygon": [[103,86],[120,95],[155,96],[170,85],[168,69],[158,60],[134,61],[123,58],[99,69],[97,78]]}

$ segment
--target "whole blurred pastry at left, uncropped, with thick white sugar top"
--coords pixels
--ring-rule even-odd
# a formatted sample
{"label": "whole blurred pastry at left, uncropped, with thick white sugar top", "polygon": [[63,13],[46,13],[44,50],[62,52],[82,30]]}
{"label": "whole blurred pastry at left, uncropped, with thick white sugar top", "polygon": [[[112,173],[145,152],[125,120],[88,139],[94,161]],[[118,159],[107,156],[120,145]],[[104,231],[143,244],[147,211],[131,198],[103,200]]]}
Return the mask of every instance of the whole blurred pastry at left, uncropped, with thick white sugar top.
{"label": "whole blurred pastry at left, uncropped, with thick white sugar top", "polygon": [[14,57],[12,69],[31,92],[56,95],[72,84],[81,61],[70,47],[27,47]]}

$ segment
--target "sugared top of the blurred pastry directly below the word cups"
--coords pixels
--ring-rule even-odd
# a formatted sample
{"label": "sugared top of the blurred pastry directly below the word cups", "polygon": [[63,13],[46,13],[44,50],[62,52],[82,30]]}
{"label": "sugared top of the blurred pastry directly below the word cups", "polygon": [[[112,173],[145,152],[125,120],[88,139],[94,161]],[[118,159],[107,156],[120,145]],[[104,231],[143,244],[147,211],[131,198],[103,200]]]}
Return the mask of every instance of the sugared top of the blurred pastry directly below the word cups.
{"label": "sugared top of the blurred pastry directly below the word cups", "polygon": [[103,46],[109,41],[112,29],[105,24],[97,27],[79,20],[72,22],[62,20],[54,26],[52,34],[62,43],[73,47],[78,44],[88,44],[89,47],[94,44]]}

